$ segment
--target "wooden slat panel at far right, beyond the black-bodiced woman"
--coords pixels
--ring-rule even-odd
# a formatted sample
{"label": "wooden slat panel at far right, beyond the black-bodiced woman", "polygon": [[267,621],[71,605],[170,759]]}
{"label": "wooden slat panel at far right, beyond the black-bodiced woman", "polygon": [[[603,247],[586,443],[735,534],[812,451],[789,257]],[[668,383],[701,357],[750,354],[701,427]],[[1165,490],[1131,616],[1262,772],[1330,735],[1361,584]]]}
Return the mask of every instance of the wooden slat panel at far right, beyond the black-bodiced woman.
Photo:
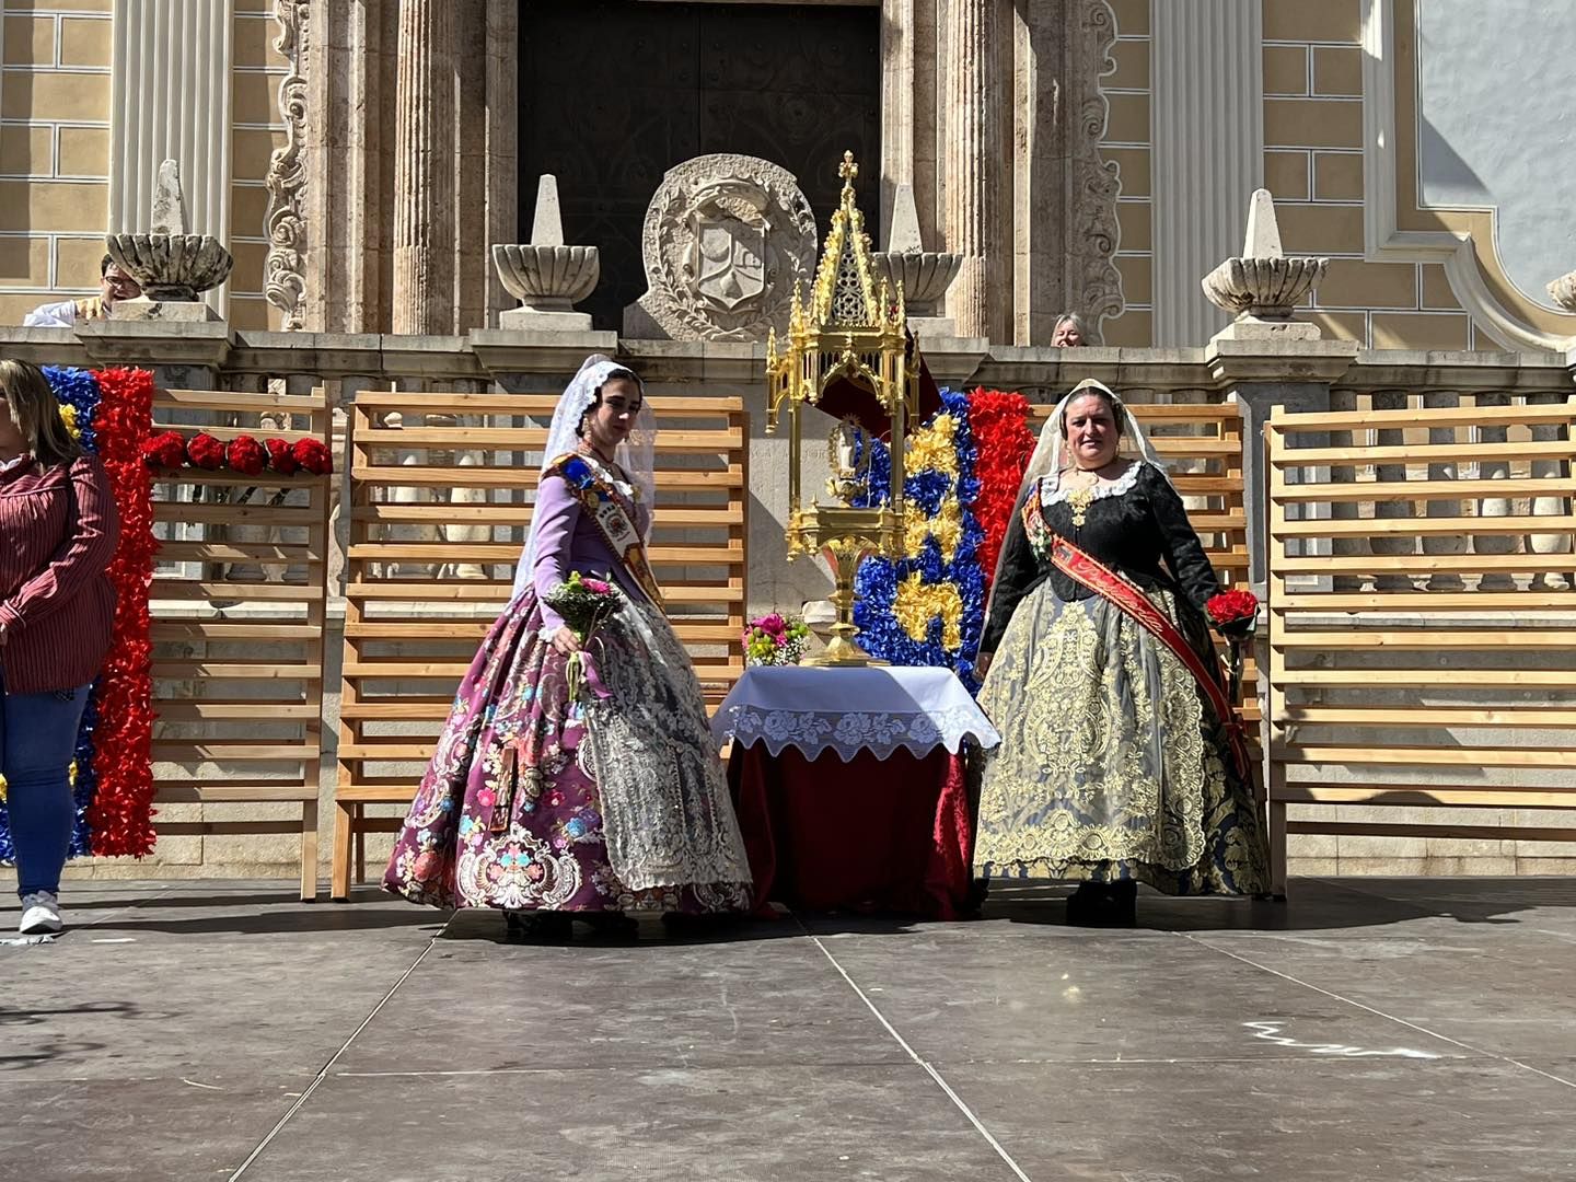
{"label": "wooden slat panel at far right, beyond the black-bodiced woman", "polygon": [[[1521,812],[1576,808],[1576,407],[1352,402],[1267,429],[1278,884],[1288,832],[1576,840]],[[1359,807],[1288,820],[1302,804]]]}

